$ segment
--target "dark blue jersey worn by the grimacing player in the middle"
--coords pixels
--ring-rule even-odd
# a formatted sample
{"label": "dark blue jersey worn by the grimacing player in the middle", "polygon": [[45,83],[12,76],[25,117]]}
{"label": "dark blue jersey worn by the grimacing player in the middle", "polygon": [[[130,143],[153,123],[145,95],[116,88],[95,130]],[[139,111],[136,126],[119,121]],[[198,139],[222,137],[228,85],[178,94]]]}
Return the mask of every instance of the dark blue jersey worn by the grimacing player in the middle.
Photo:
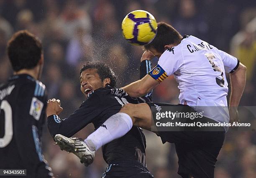
{"label": "dark blue jersey worn by the grimacing player in the middle", "polygon": [[[141,77],[150,69],[150,61],[143,61],[140,67]],[[56,134],[71,137],[89,123],[93,123],[97,129],[110,116],[118,113],[126,103],[142,102],[151,102],[151,92],[145,97],[133,98],[123,89],[106,86],[89,94],[87,100],[68,118],[61,120],[57,115],[49,116],[48,128],[52,137]],[[137,160],[146,165],[145,149],[146,140],[142,130],[133,126],[123,137],[104,145],[102,152],[108,164],[117,160]]]}

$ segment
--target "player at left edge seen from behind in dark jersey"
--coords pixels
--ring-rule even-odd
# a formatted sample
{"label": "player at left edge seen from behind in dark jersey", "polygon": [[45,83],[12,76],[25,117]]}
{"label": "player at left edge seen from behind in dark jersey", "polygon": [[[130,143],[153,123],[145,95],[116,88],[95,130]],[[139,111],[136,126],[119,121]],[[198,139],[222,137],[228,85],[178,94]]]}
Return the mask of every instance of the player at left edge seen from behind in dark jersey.
{"label": "player at left edge seen from behind in dark jersey", "polygon": [[44,63],[41,42],[19,31],[7,51],[14,74],[0,85],[0,169],[26,169],[28,178],[50,178],[41,150],[47,105],[45,86],[38,81]]}

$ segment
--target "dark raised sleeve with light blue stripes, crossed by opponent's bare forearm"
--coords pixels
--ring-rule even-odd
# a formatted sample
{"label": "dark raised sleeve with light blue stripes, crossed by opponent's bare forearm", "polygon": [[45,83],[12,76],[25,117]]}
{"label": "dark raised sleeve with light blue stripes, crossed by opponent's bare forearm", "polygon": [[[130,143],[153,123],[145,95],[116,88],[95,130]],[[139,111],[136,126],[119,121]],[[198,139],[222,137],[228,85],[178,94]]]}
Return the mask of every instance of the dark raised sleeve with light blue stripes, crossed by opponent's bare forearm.
{"label": "dark raised sleeve with light blue stripes, crossed by opponent's bare forearm", "polygon": [[[151,61],[148,61],[148,60],[142,61],[141,66],[140,66],[140,79],[142,79],[144,76],[146,76],[146,74],[148,74],[149,71],[151,71],[151,68],[152,68]],[[143,99],[143,101],[152,102],[152,92],[153,92],[153,90],[151,90],[145,96],[141,97]]]}

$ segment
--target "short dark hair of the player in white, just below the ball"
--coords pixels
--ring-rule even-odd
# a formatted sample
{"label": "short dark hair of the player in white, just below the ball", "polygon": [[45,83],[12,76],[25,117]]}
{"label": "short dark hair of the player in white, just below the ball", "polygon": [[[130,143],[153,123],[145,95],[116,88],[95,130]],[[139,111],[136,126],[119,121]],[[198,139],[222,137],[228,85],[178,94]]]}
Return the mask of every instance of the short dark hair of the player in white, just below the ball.
{"label": "short dark hair of the player in white, just below the ball", "polygon": [[179,44],[182,40],[182,36],[177,30],[175,30],[172,25],[164,22],[157,23],[157,33],[154,40],[143,46],[144,50],[150,50],[150,48],[156,49],[156,51],[164,53],[166,50],[165,45],[169,44]]}

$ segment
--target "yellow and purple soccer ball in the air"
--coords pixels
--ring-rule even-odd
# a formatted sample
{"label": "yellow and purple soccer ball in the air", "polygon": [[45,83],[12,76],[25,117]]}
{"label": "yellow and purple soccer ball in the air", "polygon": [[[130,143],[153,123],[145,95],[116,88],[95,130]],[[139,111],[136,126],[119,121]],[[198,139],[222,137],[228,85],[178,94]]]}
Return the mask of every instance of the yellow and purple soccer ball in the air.
{"label": "yellow and purple soccer ball in the air", "polygon": [[157,23],[151,13],[134,10],[122,22],[123,37],[132,45],[146,45],[156,36]]}

